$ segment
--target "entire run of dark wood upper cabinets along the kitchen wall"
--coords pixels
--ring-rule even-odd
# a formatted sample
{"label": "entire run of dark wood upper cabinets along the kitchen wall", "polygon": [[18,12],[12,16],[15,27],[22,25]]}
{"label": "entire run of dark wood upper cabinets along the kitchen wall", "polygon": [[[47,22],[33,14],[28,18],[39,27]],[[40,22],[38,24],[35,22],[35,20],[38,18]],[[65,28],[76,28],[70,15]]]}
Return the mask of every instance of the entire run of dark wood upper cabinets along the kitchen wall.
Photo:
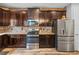
{"label": "entire run of dark wood upper cabinets along the kitchen wall", "polygon": [[53,20],[61,19],[63,15],[66,15],[66,11],[41,11],[37,9],[28,9],[12,12],[11,10],[0,8],[0,26],[9,26],[11,19],[16,20],[16,26],[24,26],[24,21],[28,18],[45,21],[40,23],[39,26],[52,26]]}

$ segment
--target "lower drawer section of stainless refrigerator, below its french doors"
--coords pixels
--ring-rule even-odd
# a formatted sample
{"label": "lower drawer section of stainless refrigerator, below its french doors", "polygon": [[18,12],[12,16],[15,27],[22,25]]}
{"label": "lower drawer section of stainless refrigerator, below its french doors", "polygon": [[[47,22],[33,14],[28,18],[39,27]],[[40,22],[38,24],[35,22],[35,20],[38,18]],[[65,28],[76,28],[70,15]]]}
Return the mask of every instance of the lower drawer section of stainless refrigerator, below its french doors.
{"label": "lower drawer section of stainless refrigerator, below its french doors", "polygon": [[57,50],[58,51],[74,51],[73,37],[58,37]]}

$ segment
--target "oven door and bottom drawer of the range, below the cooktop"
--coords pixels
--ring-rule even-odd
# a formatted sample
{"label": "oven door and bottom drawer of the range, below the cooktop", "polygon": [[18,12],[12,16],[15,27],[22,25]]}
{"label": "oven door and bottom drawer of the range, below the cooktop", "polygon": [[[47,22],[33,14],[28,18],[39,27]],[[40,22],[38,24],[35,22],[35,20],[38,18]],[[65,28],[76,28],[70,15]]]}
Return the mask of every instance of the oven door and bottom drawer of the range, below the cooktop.
{"label": "oven door and bottom drawer of the range, below the cooktop", "polygon": [[38,49],[39,48],[39,35],[27,35],[26,39],[27,49]]}

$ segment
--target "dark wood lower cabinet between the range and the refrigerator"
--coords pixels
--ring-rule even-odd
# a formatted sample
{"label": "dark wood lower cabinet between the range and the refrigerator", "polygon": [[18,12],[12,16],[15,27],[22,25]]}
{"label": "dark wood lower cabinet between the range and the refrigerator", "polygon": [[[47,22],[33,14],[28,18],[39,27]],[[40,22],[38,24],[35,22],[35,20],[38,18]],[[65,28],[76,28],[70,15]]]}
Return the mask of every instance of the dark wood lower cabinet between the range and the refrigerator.
{"label": "dark wood lower cabinet between the range and the refrigerator", "polygon": [[40,35],[39,48],[55,48],[55,36],[54,35]]}

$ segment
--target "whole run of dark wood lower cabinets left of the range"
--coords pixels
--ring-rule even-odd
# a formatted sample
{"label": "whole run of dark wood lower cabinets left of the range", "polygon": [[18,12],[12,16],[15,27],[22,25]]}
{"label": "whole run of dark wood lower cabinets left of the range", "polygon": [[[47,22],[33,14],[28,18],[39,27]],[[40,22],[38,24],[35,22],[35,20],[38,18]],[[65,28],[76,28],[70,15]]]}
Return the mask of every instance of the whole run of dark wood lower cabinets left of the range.
{"label": "whole run of dark wood lower cabinets left of the range", "polygon": [[26,35],[2,35],[0,36],[0,49],[2,48],[25,48]]}

